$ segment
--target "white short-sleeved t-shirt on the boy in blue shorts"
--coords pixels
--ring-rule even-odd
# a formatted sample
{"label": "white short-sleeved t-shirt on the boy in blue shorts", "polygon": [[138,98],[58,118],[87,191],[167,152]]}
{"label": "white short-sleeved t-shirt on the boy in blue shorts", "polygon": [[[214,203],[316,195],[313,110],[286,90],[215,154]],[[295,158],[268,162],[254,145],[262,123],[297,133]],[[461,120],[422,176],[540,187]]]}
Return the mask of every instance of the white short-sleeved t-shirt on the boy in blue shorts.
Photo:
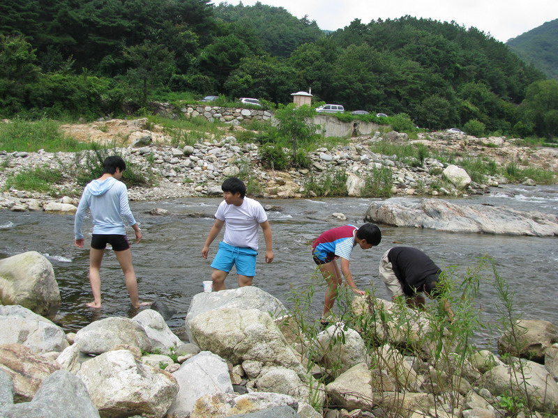
{"label": "white short-sleeved t-shirt on the boy in blue shorts", "polygon": [[257,229],[259,224],[267,220],[266,212],[258,201],[246,196],[241,206],[227,205],[227,202],[222,201],[215,217],[225,221],[223,241],[226,244],[257,251]]}

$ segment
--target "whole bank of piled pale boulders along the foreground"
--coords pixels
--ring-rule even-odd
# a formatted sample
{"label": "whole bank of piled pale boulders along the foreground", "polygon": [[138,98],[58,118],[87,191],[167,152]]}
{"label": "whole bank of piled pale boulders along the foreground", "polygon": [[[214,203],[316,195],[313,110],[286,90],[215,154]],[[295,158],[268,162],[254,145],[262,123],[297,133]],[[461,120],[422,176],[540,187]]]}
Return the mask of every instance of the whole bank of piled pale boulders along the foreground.
{"label": "whole bank of piled pale boulders along the foreground", "polygon": [[360,325],[332,321],[308,332],[308,323],[254,286],[198,293],[183,340],[157,303],[133,318],[105,318],[65,334],[2,301],[0,417],[558,413],[558,329],[548,321],[515,323],[499,339],[500,357],[455,352],[462,341],[446,332],[437,341],[433,318],[370,296],[354,297],[350,307]]}

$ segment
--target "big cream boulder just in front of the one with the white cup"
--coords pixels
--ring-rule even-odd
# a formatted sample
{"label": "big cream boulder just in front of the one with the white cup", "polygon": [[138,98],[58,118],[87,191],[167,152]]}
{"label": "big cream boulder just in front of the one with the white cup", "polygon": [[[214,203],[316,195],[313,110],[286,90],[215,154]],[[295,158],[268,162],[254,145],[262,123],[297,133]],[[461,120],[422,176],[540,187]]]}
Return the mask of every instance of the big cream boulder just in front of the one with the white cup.
{"label": "big cream boulder just in front of the one with the white cup", "polygon": [[232,364],[245,360],[266,366],[304,369],[271,316],[259,309],[225,308],[207,311],[190,320],[193,342]]}

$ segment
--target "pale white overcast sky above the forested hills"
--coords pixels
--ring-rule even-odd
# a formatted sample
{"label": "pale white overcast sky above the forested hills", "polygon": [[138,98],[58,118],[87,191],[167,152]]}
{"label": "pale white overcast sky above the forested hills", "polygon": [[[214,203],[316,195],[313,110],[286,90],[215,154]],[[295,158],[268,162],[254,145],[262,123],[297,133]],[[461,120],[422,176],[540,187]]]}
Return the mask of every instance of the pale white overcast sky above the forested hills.
{"label": "pale white overcast sky above the forested hills", "polygon": [[[252,6],[256,0],[242,3]],[[330,31],[355,19],[369,23],[410,15],[442,22],[454,20],[466,28],[475,26],[502,42],[558,18],[558,0],[261,0],[261,3],[280,6],[296,17],[308,15],[320,29]]]}

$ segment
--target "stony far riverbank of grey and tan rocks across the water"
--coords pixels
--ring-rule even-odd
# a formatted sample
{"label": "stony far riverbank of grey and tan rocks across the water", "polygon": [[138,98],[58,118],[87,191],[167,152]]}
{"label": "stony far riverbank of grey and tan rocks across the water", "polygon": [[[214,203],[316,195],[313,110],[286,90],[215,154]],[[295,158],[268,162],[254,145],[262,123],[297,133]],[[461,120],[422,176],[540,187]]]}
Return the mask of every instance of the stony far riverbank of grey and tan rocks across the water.
{"label": "stony far riverbank of grey and tan rocks across the water", "polygon": [[[150,128],[150,130],[147,129]],[[425,158],[419,164],[414,158],[400,159],[395,155],[379,155],[370,151],[377,141],[421,143],[431,150],[445,150],[465,157],[488,157],[497,164],[511,161],[525,166],[558,172],[557,148],[528,148],[515,146],[513,140],[502,137],[476,138],[442,132],[421,134],[409,141],[406,134],[376,132],[371,136],[354,137],[345,146],[319,148],[308,155],[308,169],[275,171],[264,169],[259,146],[241,144],[235,132],[243,127],[232,125],[223,134],[213,135],[193,146],[173,147],[172,139],[162,127],[151,126],[146,119],[135,121],[104,121],[86,125],[64,125],[65,132],[82,140],[103,144],[120,144],[116,152],[142,176],[153,179],[152,187],[130,187],[130,199],[159,200],[188,196],[220,194],[220,184],[227,176],[243,173],[253,179],[259,196],[269,198],[298,198],[312,196],[306,188],[308,179],[317,183],[333,173],[347,173],[349,196],[360,196],[366,178],[379,169],[389,169],[393,178],[391,193],[395,196],[463,196],[483,194],[489,187],[507,182],[503,176],[489,176],[485,184],[471,181],[468,173],[456,164],[444,164]],[[288,152],[288,150],[287,150]],[[84,153],[38,153],[0,150],[0,209],[15,211],[42,210],[48,203],[76,203],[82,186],[75,183],[77,167],[86,162]],[[14,188],[6,189],[6,179],[37,167],[59,169],[64,183],[54,185],[53,192],[41,194]],[[525,178],[525,184],[534,181]]]}

